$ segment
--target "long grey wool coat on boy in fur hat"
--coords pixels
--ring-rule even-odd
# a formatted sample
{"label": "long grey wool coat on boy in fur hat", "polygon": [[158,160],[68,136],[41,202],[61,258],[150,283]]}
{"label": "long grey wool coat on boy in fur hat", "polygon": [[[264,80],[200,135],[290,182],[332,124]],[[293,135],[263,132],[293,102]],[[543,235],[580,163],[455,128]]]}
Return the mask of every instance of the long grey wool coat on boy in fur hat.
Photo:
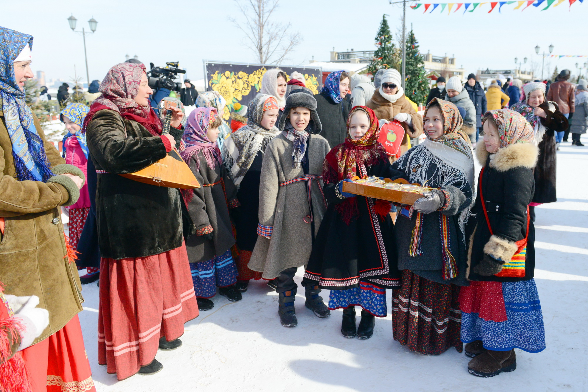
{"label": "long grey wool coat on boy in fur hat", "polygon": [[[280,183],[305,175],[303,167],[292,167],[293,142],[283,134],[269,142],[263,155],[259,184],[259,222],[273,226],[270,239],[258,236],[248,267],[263,272],[264,279],[273,279],[290,267],[308,263],[313,237],[319,231],[326,211],[323,198],[323,180],[312,181],[310,191],[313,225],[306,223],[310,215],[307,187],[300,181]],[[320,135],[311,134],[308,139],[308,174],[323,173],[323,161],[330,151],[329,142]],[[306,218],[309,221],[309,218]],[[314,233],[312,233],[314,227]]]}

